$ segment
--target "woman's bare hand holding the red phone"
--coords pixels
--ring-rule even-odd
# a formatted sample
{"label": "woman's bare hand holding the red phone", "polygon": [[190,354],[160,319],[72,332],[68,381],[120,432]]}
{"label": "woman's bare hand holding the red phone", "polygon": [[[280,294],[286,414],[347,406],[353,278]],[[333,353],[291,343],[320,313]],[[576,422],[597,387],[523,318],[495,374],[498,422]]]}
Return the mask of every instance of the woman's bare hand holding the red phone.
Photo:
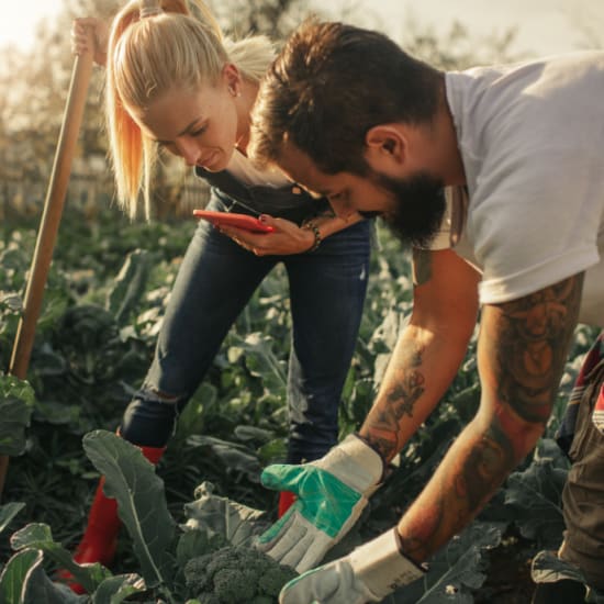
{"label": "woman's bare hand holding the red phone", "polygon": [[314,246],[314,233],[307,228],[301,228],[293,222],[273,219],[266,214],[262,214],[260,220],[272,226],[275,231],[272,233],[251,233],[245,228],[221,226],[220,232],[256,256],[303,254]]}

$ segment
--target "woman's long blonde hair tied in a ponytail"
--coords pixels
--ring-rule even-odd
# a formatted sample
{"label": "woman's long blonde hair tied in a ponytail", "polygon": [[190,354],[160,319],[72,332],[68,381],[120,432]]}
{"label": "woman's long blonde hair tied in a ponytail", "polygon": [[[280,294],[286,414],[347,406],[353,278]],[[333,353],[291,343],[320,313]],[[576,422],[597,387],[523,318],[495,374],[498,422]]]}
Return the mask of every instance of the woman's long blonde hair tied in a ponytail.
{"label": "woman's long blonde hair tied in a ponytail", "polygon": [[170,88],[215,86],[228,63],[245,79],[257,82],[273,56],[265,36],[225,38],[198,0],[132,0],[115,15],[108,48],[105,110],[118,200],[131,217],[137,213],[141,193],[145,215],[150,215],[150,177],[157,156],[157,145],[143,136],[132,113]]}

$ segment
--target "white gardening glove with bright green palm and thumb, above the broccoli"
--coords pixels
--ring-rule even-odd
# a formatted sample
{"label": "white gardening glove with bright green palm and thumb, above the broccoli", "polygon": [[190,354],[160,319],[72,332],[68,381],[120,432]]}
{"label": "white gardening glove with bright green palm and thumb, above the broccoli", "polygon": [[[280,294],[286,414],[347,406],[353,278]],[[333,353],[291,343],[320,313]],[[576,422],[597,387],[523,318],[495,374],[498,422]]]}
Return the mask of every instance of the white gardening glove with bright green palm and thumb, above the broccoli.
{"label": "white gardening glove with bright green palm and thumb, above the broccoli", "polygon": [[298,572],[315,567],[357,522],[383,472],[381,456],[356,435],[315,461],[269,466],[262,484],[291,491],[297,501],[256,547]]}

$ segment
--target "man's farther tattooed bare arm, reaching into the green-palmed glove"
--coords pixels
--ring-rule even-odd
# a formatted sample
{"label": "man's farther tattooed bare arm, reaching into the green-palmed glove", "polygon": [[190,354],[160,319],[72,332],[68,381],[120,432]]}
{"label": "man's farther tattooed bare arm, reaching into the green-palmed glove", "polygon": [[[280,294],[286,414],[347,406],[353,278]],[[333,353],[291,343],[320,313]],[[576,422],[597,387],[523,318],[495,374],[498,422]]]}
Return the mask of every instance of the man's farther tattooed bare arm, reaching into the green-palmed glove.
{"label": "man's farther tattooed bare arm, reaching into the green-palmed glove", "polygon": [[476,327],[480,275],[451,250],[415,250],[414,300],[360,436],[385,461],[403,448],[455,378]]}

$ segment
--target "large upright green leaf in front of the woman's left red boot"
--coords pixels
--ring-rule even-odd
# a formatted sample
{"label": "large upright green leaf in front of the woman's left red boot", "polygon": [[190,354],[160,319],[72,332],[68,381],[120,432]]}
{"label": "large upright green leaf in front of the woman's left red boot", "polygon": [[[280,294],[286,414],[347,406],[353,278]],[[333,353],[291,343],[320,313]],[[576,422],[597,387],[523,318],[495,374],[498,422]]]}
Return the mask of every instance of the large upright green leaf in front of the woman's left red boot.
{"label": "large upright green leaf in front of the woman's left red boot", "polygon": [[146,584],[169,584],[176,523],[154,466],[137,447],[107,430],[85,435],[83,448],[105,477],[105,495],[118,501],[120,518],[133,540]]}

